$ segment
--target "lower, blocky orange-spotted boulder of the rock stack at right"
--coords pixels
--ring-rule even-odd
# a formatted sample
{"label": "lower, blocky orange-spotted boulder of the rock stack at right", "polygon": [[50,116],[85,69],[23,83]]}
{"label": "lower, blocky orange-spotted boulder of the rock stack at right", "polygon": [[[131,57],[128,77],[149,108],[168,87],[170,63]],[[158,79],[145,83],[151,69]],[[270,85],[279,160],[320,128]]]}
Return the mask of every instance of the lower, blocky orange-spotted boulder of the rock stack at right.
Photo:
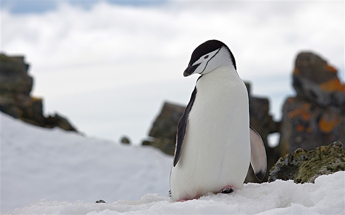
{"label": "lower, blocky orange-spotted boulder of the rock stack at right", "polygon": [[279,151],[316,149],[325,142],[345,141],[345,112],[335,106],[319,107],[301,98],[288,98],[283,106]]}

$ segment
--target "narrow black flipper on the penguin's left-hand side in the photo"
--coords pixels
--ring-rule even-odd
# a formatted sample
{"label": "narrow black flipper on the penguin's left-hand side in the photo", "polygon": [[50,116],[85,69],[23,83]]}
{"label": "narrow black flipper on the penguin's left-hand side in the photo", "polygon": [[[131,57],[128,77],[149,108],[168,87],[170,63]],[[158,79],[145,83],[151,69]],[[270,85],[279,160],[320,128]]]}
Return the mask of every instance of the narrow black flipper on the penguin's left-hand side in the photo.
{"label": "narrow black flipper on the penguin's left-hand side in the photo", "polygon": [[192,109],[196,94],[197,94],[197,87],[194,88],[194,91],[192,92],[192,96],[190,97],[189,103],[186,109],[184,110],[184,113],[180,121],[177,124],[176,149],[175,149],[175,156],[173,157],[173,167],[176,166],[182,153],[182,147],[183,147],[182,145],[183,145],[183,140],[184,140],[184,134],[186,133],[188,115],[189,115],[190,110]]}

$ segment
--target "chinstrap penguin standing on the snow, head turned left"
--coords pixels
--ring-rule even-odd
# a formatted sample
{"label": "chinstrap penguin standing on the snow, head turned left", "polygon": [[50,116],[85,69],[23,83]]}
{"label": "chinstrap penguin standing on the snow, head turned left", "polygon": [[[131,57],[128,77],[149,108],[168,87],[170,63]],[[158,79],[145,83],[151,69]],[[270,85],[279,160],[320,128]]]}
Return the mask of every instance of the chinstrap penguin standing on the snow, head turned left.
{"label": "chinstrap penguin standing on the snow, head turned left", "polygon": [[183,72],[193,74],[201,76],[177,125],[173,201],[240,189],[250,163],[260,181],[267,169],[264,143],[249,125],[248,92],[228,46],[218,40],[199,45]]}

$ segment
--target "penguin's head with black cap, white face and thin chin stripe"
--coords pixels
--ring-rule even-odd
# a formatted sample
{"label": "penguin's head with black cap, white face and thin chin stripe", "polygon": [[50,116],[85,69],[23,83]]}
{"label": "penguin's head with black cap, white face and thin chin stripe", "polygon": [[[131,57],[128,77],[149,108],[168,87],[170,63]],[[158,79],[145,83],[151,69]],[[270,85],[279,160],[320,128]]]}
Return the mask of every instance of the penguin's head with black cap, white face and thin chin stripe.
{"label": "penguin's head with black cap, white face and thin chin stripe", "polygon": [[183,76],[196,73],[205,75],[219,66],[230,66],[236,70],[235,58],[223,42],[208,40],[193,51]]}

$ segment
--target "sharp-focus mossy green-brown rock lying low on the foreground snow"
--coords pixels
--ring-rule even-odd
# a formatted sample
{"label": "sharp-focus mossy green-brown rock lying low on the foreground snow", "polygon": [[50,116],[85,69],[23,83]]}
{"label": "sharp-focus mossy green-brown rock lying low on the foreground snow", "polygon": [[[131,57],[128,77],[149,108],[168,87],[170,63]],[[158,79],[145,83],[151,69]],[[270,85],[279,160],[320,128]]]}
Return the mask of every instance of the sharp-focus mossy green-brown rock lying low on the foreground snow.
{"label": "sharp-focus mossy green-brown rock lying low on the foreground snow", "polygon": [[313,183],[320,175],[345,171],[345,150],[336,141],[316,150],[297,149],[280,157],[270,170],[269,182],[293,180],[295,183]]}

